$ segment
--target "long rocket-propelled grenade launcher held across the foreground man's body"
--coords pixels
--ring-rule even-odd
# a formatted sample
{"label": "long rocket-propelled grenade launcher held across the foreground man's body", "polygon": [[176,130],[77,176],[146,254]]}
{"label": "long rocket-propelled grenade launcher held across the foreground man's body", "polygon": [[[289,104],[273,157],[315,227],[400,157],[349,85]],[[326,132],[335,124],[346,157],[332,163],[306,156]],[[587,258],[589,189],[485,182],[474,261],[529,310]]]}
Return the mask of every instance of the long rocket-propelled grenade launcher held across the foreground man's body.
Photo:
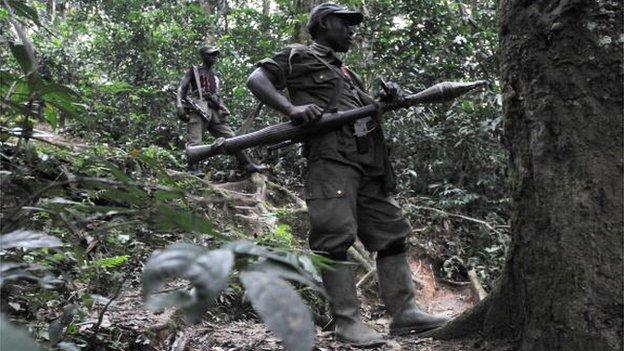
{"label": "long rocket-propelled grenade launcher held across the foreground man's body", "polygon": [[378,114],[407,108],[421,103],[438,103],[452,100],[470,90],[485,85],[485,81],[472,83],[442,82],[419,93],[408,95],[389,102],[376,102],[348,111],[325,113],[312,125],[293,125],[291,122],[279,123],[248,134],[232,138],[219,138],[209,145],[188,146],[186,154],[190,164],[219,155],[233,154],[237,151],[260,145],[275,145],[283,142],[305,141],[310,136],[326,133],[347,123]]}

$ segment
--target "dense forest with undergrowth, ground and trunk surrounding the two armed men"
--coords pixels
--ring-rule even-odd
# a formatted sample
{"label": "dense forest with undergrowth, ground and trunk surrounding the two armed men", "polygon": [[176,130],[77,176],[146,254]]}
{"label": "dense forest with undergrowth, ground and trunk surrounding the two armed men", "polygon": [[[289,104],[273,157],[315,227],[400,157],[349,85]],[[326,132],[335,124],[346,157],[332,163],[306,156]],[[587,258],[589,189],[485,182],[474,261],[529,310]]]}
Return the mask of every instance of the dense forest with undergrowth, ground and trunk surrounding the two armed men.
{"label": "dense forest with undergrowth, ground and trunk surrounding the two armed men", "polygon": [[[2,350],[351,349],[328,332],[301,145],[197,176],[175,106],[208,45],[236,134],[285,122],[247,77],[310,42],[319,3],[2,1]],[[417,299],[457,318],[380,349],[620,349],[622,4],[340,3],[364,14],[341,58],[369,91],[487,82],[386,114]],[[374,258],[349,259],[384,331]]]}

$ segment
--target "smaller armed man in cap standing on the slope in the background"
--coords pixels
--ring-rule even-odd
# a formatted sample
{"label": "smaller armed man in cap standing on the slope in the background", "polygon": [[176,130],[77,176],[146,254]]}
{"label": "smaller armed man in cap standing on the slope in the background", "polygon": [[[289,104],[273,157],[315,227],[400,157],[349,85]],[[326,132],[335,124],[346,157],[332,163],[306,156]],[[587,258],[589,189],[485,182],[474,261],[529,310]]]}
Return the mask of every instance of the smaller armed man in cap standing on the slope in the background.
{"label": "smaller armed man in cap standing on the slope in the background", "polygon": [[[178,117],[188,122],[188,143],[187,145],[199,145],[202,143],[202,135],[207,129],[215,137],[230,138],[235,136],[234,131],[225,123],[226,116],[230,110],[225,106],[219,97],[220,80],[219,76],[212,69],[218,55],[219,49],[204,46],[199,50],[199,55],[203,61],[201,66],[191,67],[178,85],[176,94],[176,108]],[[199,87],[199,88],[198,88]],[[189,90],[197,106],[205,112],[208,118],[204,118],[198,111],[187,109],[184,106],[184,99]],[[247,173],[261,172],[265,166],[256,165],[243,151],[235,154],[239,167]],[[201,174],[197,169],[197,164],[189,165],[189,171],[194,174]]]}

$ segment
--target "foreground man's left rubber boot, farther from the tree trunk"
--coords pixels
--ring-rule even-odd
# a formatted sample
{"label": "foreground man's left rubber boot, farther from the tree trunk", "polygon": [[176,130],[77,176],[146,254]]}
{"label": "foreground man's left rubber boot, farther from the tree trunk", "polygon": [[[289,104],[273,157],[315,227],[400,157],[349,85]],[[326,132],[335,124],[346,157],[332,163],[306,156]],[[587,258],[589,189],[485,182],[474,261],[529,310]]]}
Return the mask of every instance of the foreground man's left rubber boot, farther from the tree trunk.
{"label": "foreground man's left rubber boot, farther from the tree trunk", "polygon": [[385,344],[383,336],[360,320],[360,304],[355,287],[353,266],[338,263],[333,270],[321,273],[335,320],[335,335],[340,341],[357,347]]}

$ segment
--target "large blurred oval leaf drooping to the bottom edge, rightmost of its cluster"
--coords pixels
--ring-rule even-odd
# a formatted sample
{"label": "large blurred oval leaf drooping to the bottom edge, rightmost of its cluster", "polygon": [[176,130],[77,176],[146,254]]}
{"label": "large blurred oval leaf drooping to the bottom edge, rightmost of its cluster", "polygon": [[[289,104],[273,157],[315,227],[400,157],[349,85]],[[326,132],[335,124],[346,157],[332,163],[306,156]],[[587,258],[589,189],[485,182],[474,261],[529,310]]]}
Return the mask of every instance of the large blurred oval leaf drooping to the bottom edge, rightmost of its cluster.
{"label": "large blurred oval leaf drooping to the bottom edge, rightmost of its cluster", "polygon": [[315,335],[312,315],[290,284],[262,272],[242,272],[240,280],[253,308],[282,339],[286,350],[312,350]]}

